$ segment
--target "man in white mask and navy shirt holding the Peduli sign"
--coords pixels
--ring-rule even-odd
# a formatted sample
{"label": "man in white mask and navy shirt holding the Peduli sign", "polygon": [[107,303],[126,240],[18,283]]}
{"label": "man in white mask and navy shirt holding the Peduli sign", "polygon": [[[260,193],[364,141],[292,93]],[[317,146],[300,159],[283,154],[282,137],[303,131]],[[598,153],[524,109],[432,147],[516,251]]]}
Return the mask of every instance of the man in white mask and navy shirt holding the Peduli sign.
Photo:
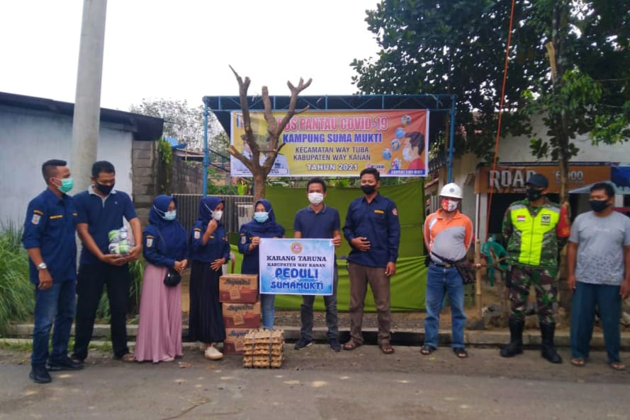
{"label": "man in white mask and navy shirt holding the Peduli sign", "polygon": [[[306,185],[306,195],[310,203],[296,213],[293,221],[294,238],[323,239],[332,238],[332,245],[342,244],[341,221],[339,211],[324,204],[326,197],[326,182],[322,178],[313,178]],[[334,351],[340,351],[339,322],[337,320],[337,262],[334,262],[332,278],[332,295],[324,296],[326,305],[326,326],[328,327],[328,343]],[[296,343],[296,350],[302,350],[313,344],[313,302],[315,296],[302,296],[302,310],[300,318],[301,337]]]}

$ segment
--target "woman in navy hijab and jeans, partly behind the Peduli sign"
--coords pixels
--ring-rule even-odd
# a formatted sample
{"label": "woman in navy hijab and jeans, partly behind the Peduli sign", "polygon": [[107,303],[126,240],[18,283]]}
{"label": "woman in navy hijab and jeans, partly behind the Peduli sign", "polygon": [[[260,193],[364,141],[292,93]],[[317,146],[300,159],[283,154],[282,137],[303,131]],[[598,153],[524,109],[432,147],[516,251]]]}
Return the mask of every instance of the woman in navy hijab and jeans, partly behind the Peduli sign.
{"label": "woman in navy hijab and jeans, partly behind the Peduli sign", "polygon": [[[238,250],[243,254],[242,274],[259,274],[259,245],[260,238],[283,238],[284,228],[276,223],[274,209],[266,199],[259,199],[254,205],[254,220],[245,223],[240,228]],[[266,329],[274,328],[275,295],[261,294],[260,305],[262,312],[262,326]]]}

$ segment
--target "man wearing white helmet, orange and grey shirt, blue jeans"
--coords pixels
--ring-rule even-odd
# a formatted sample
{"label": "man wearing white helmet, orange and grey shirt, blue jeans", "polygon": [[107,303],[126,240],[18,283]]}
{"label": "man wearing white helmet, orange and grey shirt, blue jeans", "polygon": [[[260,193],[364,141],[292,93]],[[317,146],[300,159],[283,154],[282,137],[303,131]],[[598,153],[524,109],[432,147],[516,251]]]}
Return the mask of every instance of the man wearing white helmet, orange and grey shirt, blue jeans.
{"label": "man wearing white helmet, orange and grey shirt, blue jeans", "polygon": [[473,238],[473,222],[459,212],[461,188],[451,182],[444,185],[439,194],[440,209],[429,214],[424,221],[424,244],[429,252],[427,293],[424,317],[424,345],[420,353],[432,354],[437,349],[439,312],[444,295],[451,305],[451,348],[459,358],[468,357],[463,344],[463,328],[466,313],[463,310],[463,279],[454,262],[466,257]]}

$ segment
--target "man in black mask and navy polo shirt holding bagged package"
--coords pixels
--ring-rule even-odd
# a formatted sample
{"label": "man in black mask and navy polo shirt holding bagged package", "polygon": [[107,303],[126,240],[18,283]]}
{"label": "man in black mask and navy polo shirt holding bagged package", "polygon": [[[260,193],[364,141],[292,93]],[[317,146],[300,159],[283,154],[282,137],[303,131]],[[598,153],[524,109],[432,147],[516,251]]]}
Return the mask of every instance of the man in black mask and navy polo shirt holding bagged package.
{"label": "man in black mask and navy polo shirt holding bagged package", "polygon": [[[83,243],[77,276],[77,321],[73,358],[83,361],[94,330],[103,285],[107,287],[111,314],[111,343],[114,358],[133,361],[127,346],[127,309],[131,275],[128,262],[142,251],[142,228],[131,198],[113,189],[116,171],[108,161],[92,165],[92,184],[74,196],[79,212],[77,233]],[[108,233],[123,227],[125,218],[133,231],[134,246],[127,255],[109,253]]]}

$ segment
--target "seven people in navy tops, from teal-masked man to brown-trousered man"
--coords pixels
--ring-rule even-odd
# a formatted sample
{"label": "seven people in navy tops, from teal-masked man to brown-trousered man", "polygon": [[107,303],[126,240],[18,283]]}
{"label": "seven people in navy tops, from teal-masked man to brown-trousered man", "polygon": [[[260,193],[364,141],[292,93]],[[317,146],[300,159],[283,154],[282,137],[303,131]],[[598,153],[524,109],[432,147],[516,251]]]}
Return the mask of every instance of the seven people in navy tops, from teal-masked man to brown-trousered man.
{"label": "seven people in navy tops, from teal-masked man to brown-trousered man", "polygon": [[[91,185],[74,197],[68,195],[73,181],[67,163],[46,161],[42,175],[47,188],[29,205],[24,223],[23,245],[30,257],[30,280],[35,284],[35,327],[30,378],[49,383],[49,371],[79,370],[88,356],[96,310],[106,287],[111,313],[111,340],[114,358],[121,361],[172,361],[182,355],[181,283],[164,284],[167,272],[181,274],[191,268],[189,339],[201,342],[206,358],[223,354],[214,344],[225,339],[219,303],[218,278],[230,257],[225,228],[220,223],[225,203],[217,197],[203,197],[198,220],[191,233],[177,221],[174,197],[155,197],[149,225],[142,232],[140,221],[128,194],[114,189],[116,171],[107,161],[92,166]],[[378,194],[379,174],[373,168],[361,172],[364,197],[352,202],[344,226],[351,244],[352,337],[344,348],[362,344],[361,320],[367,284],[373,288],[378,309],[379,344],[390,354],[389,278],[395,273],[400,225],[398,212],[389,199]],[[339,212],[326,206],[326,183],[320,178],[307,185],[309,205],[298,211],[295,238],[330,238],[335,247],[342,242]],[[130,249],[126,254],[108,250],[111,231],[128,222]],[[76,269],[75,231],[83,249]],[[259,274],[261,238],[283,238],[285,230],[276,222],[271,203],[259,199],[254,217],[240,228],[239,251],[244,255],[243,274]],[[143,253],[147,262],[142,280],[140,321],[135,352],[127,345],[126,313],[131,275],[128,263]],[[296,349],[313,341],[314,296],[303,296],[302,337]],[[76,303],[76,304],[75,304]],[[331,349],[342,349],[338,341],[337,266],[334,267],[334,293],[325,296],[326,322]],[[76,305],[76,306],[75,306]],[[274,295],[261,295],[262,324],[274,327]],[[72,355],[68,343],[72,321],[76,338]],[[52,353],[48,342],[52,325]]]}

